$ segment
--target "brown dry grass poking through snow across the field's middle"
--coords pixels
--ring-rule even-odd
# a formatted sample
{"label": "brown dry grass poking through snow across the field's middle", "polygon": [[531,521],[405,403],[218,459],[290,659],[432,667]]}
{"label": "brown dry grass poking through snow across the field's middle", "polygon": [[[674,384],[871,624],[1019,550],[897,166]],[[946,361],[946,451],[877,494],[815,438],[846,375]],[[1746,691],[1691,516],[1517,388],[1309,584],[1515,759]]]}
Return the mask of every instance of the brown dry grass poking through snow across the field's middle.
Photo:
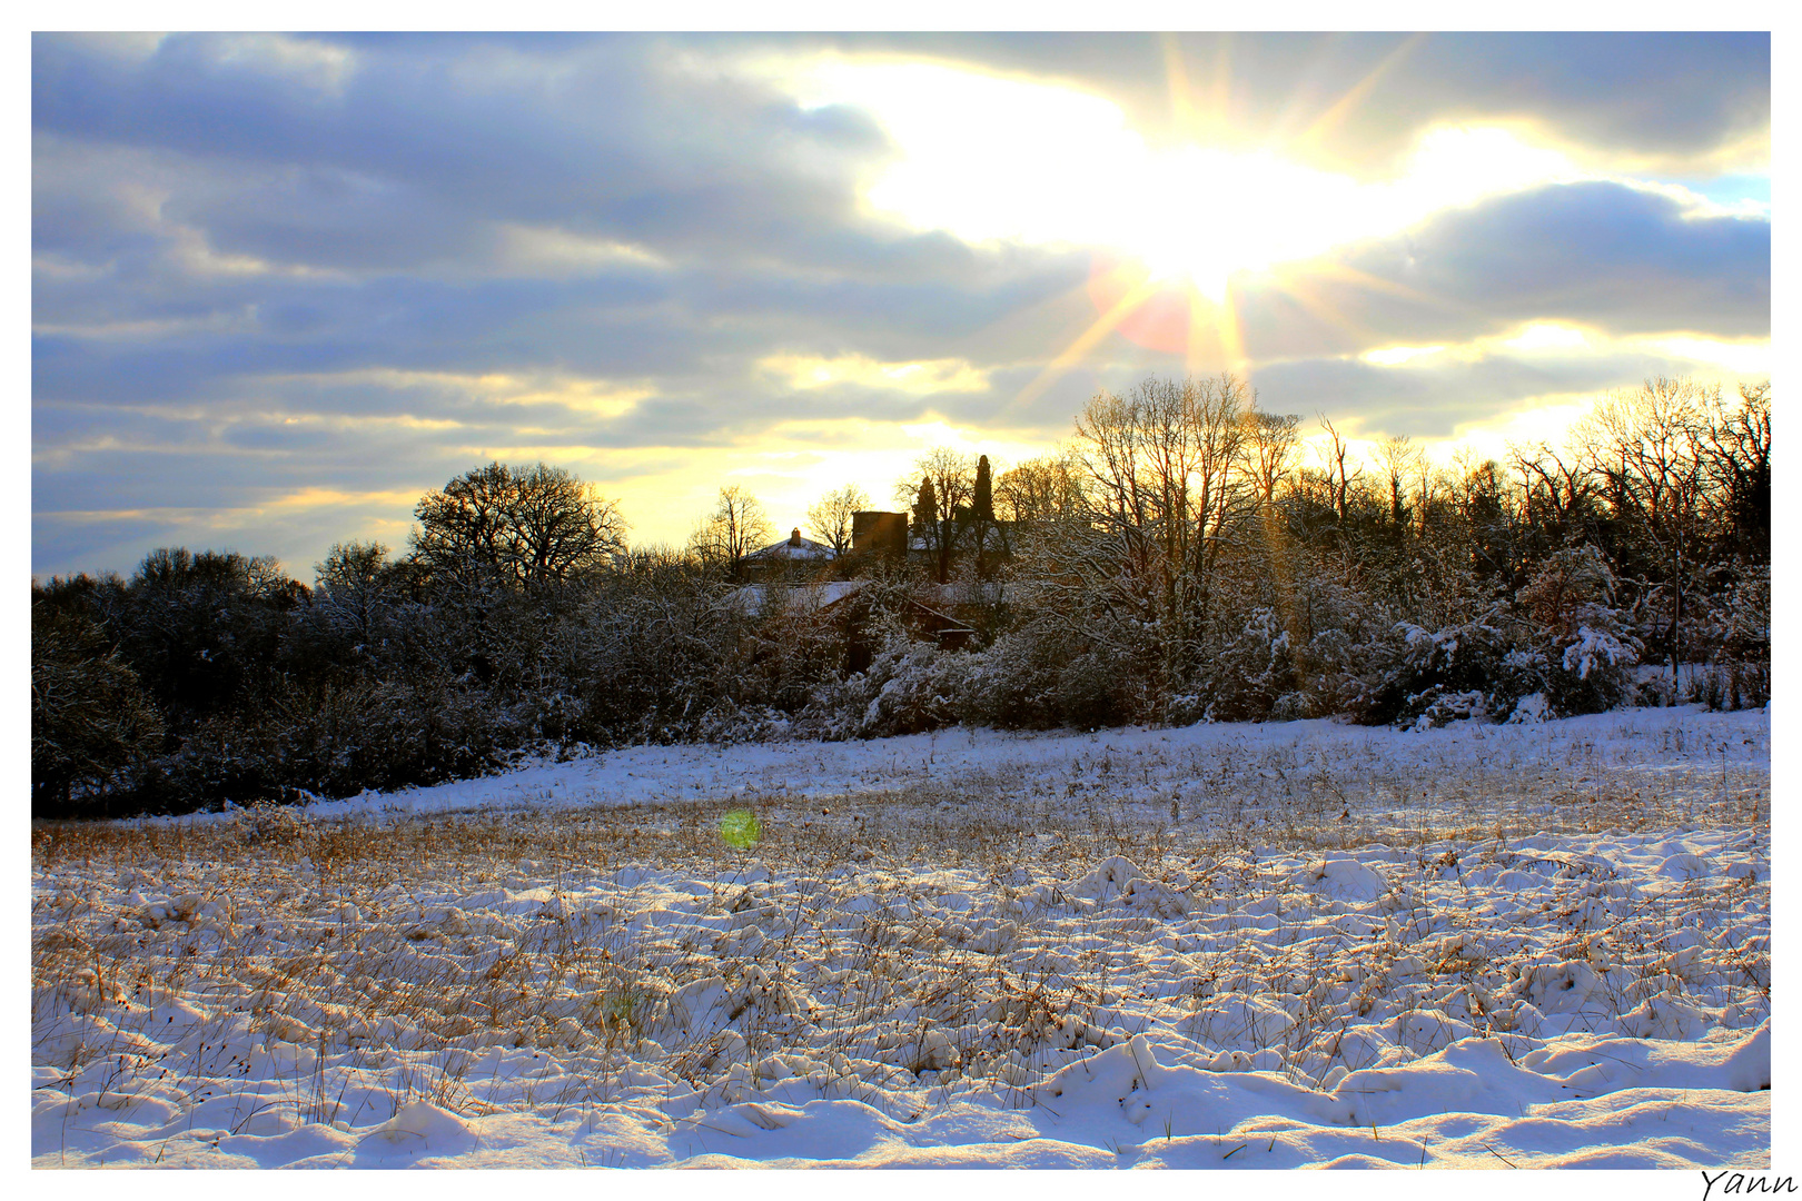
{"label": "brown dry grass poking through snow across the field's middle", "polygon": [[[1373,1014],[1418,1014],[1422,1048],[1434,1023],[1447,1039],[1506,1034],[1492,994],[1530,953],[1616,967],[1606,976],[1616,1016],[1683,972],[1768,1008],[1768,933],[1708,933],[1681,972],[1663,949],[1670,929],[1710,911],[1762,911],[1768,929],[1768,880],[1716,877],[1647,900],[1577,866],[1548,900],[1557,940],[1445,942],[1447,913],[1487,929],[1451,897],[1472,873],[1532,864],[1510,850],[1521,835],[1768,837],[1764,774],[1649,774],[1575,756],[1535,772],[1449,765],[1400,778],[1380,762],[1270,753],[1197,763],[1177,798],[1146,801],[1110,792],[1114,771],[1094,762],[1061,794],[997,774],[825,801],[773,792],[441,817],[38,825],[34,1062],[70,1093],[166,1097],[238,1131],[359,1125],[418,1097],[470,1115],[591,1113],[647,1088],[679,1115],[786,1077],[912,1116],[971,1082],[1027,1104],[1070,1053],[1168,1019],[1166,1001],[1206,1014],[1222,998],[1279,998],[1294,1023],[1279,1039],[1243,1062],[1200,1062],[1332,1080],[1361,1066],[1341,1046]],[[750,853],[719,835],[739,808],[762,828]],[[1270,848],[1371,843],[1411,859],[1389,861],[1397,902],[1370,936],[1352,924],[1321,938],[1306,898],[1260,866]],[[1180,891],[1188,917],[1047,884],[1112,855]],[[672,917],[649,886],[596,891],[647,864],[706,882],[705,898]],[[962,875],[933,882],[946,873]],[[494,889],[548,893],[530,911],[445,900]],[[969,908],[948,908],[948,891]],[[674,1023],[672,998],[714,978],[732,1023]],[[1126,996],[1148,981],[1173,989]],[[97,1035],[65,1019],[96,1012],[108,1017]],[[521,1070],[521,1055],[542,1064]],[[652,1084],[645,1066],[660,1073]],[[250,1080],[274,1084],[240,1084]]]}

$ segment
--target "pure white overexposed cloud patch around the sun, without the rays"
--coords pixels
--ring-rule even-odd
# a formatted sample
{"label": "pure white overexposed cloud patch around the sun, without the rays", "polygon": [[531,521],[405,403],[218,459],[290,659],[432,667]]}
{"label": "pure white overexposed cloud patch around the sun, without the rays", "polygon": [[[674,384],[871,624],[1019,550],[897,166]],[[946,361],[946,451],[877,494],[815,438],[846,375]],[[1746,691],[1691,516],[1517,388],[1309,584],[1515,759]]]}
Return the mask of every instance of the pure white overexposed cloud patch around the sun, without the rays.
{"label": "pure white overexposed cloud patch around the sun, without the rays", "polygon": [[1281,148],[1159,149],[1119,104],[939,63],[825,56],[784,79],[809,108],[870,112],[901,155],[872,211],[968,243],[1110,247],[1220,297],[1236,272],[1391,234],[1452,205],[1593,178],[1524,124],[1427,130],[1404,173],[1361,182]]}

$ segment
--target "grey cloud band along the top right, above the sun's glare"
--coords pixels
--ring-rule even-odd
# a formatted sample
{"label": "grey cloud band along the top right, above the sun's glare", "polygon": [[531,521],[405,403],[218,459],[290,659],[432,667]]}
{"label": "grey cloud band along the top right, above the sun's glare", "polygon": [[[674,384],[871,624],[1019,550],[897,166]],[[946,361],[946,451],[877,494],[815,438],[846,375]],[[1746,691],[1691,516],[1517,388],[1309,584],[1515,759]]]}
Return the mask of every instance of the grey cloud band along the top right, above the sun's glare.
{"label": "grey cloud band along the top right, above the sun's glare", "polygon": [[1051,79],[1114,99],[1160,142],[1299,140],[1317,166],[1366,178],[1395,171],[1447,119],[1506,117],[1611,167],[1712,173],[1770,155],[1766,32],[840,34],[800,45]]}

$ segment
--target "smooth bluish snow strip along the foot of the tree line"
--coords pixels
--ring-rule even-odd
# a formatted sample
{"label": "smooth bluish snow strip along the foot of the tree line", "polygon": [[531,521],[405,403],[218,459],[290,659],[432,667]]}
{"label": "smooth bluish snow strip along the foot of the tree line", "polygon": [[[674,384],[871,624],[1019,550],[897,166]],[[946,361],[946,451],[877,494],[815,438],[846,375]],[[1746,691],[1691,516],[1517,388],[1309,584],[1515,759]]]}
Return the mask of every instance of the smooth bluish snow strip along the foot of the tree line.
{"label": "smooth bluish snow strip along the foot of the tree line", "polygon": [[[1310,778],[1359,772],[1406,794],[1409,778],[1494,772],[1503,789],[1557,781],[1602,783],[1611,769],[1667,780],[1697,769],[1694,796],[1719,790],[1730,769],[1770,771],[1770,715],[1627,709],[1559,722],[1490,726],[1454,722],[1429,731],[1299,722],[1108,729],[1092,735],[951,729],[867,742],[768,742],[730,749],[706,744],[640,745],[566,763],[535,763],[478,780],[391,794],[314,801],[315,817],[441,814],[458,810],[654,805],[696,798],[833,798],[915,785],[1006,789],[1020,794],[1105,790],[1130,801],[1197,798],[1209,789],[1294,792]],[[1712,765],[1712,780],[1706,776]],[[1524,781],[1514,780],[1532,772]],[[1231,778],[1218,781],[1227,774]],[[1544,803],[1544,787],[1528,787]],[[1679,803],[1687,794],[1670,794]],[[1456,816],[1469,817],[1461,799]],[[1337,814],[1337,810],[1335,810]],[[1409,805],[1409,816],[1438,814]]]}

